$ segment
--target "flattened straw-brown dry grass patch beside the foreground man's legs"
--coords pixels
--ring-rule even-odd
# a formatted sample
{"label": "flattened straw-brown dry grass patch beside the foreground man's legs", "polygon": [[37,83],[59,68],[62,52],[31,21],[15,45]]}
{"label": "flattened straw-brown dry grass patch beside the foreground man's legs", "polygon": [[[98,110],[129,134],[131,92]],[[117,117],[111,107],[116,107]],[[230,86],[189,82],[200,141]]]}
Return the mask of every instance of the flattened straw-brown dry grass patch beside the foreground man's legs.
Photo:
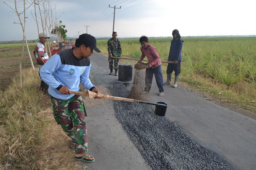
{"label": "flattened straw-brown dry grass patch beside the foreground man's legs", "polygon": [[42,143],[38,148],[41,154],[36,164],[40,169],[77,169],[77,161],[73,159],[74,150],[69,148],[69,137],[55,122],[52,109],[41,114],[45,113],[50,126],[42,133]]}

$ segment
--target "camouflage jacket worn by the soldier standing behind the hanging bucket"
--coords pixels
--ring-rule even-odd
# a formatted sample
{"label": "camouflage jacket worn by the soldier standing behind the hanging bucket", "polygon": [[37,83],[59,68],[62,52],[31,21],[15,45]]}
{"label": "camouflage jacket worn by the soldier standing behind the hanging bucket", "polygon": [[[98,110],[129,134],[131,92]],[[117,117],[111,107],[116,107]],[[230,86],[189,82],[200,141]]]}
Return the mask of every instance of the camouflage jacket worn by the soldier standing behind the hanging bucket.
{"label": "camouflage jacket worn by the soldier standing behind the hanging bucket", "polygon": [[108,40],[108,56],[112,55],[113,57],[122,56],[122,47],[118,39],[113,40],[110,38]]}

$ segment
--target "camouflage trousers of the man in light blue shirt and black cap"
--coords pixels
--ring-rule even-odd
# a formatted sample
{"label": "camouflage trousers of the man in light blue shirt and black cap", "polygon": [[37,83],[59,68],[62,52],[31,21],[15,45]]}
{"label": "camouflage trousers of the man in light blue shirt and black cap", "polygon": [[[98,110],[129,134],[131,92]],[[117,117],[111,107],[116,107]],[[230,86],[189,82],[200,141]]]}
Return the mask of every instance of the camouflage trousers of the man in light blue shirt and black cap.
{"label": "camouflage trousers of the man in light blue shirt and black cap", "polygon": [[60,100],[51,96],[53,116],[64,132],[76,144],[76,154],[88,153],[87,129],[84,117],[86,116],[84,102],[80,95],[68,100]]}

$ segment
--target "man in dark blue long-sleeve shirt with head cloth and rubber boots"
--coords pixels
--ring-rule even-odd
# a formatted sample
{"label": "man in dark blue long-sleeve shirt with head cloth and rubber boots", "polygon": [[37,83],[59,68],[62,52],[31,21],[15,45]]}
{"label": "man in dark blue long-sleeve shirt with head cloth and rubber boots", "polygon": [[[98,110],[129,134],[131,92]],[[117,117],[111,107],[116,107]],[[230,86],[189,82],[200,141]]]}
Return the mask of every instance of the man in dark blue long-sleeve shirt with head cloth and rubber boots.
{"label": "man in dark blue long-sleeve shirt with head cloth and rubber boots", "polygon": [[177,87],[178,79],[180,76],[181,49],[183,40],[180,39],[180,33],[176,29],[172,31],[172,36],[173,40],[171,41],[168,61],[173,61],[173,63],[168,63],[166,69],[167,81],[164,83],[164,85],[171,85],[172,72],[174,71],[175,79],[174,85],[172,87]]}

